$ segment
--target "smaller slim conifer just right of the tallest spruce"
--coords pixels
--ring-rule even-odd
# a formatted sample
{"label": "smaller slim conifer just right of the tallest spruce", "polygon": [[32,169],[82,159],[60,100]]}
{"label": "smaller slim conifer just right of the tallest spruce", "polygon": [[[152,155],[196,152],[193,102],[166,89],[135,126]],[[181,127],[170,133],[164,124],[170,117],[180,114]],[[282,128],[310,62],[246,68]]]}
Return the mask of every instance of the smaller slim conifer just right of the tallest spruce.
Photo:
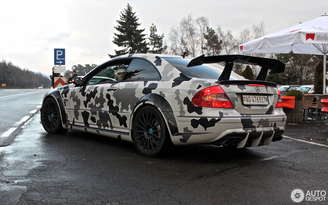
{"label": "smaller slim conifer just right of the tallest spruce", "polygon": [[150,35],[149,35],[149,43],[150,46],[149,53],[163,53],[167,46],[163,47],[163,38],[164,33],[162,35],[156,34],[157,28],[154,23],[149,27]]}

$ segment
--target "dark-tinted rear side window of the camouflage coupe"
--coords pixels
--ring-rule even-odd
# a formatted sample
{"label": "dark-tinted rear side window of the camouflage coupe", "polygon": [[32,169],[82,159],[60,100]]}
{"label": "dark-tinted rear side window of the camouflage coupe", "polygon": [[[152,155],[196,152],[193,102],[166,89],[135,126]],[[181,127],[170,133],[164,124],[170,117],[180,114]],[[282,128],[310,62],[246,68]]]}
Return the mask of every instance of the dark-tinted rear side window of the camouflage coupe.
{"label": "dark-tinted rear side window of the camouflage coupe", "polygon": [[160,76],[148,62],[133,59],[123,80],[159,80]]}

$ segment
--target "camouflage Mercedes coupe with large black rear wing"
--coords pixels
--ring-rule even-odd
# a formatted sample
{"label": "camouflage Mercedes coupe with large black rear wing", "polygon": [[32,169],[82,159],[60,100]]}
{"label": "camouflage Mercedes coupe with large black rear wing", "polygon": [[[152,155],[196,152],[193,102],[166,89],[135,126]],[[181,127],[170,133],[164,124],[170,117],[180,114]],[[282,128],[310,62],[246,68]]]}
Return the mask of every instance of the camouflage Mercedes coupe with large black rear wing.
{"label": "camouflage Mercedes coupe with large black rear wing", "polygon": [[[262,68],[250,81],[232,72],[234,63]],[[286,115],[277,84],[264,80],[268,70],[284,69],[276,59],[246,55],[122,55],[46,93],[41,122],[48,133],[77,130],[134,142],[146,156],[172,143],[269,145],[282,138]]]}

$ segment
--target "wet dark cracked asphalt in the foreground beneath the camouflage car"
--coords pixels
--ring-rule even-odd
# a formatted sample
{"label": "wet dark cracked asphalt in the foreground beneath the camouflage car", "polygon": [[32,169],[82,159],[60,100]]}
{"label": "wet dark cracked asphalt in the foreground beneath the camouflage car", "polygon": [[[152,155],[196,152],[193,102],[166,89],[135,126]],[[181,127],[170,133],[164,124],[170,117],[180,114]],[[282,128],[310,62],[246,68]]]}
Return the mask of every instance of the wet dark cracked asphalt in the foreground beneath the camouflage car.
{"label": "wet dark cracked asphalt in the foreground beneath the camouflage car", "polygon": [[148,158],[117,139],[46,133],[39,118],[0,155],[0,204],[294,204],[295,188],[328,193],[327,141],[304,137],[327,138],[324,124],[288,125],[269,146],[194,145]]}

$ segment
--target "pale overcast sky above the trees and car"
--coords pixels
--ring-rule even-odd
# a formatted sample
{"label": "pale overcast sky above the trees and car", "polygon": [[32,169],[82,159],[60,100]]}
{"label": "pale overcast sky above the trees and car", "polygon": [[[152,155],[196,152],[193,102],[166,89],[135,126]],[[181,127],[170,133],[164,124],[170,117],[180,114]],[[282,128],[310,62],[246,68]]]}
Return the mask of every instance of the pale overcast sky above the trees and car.
{"label": "pale overcast sky above the trees and car", "polygon": [[210,27],[221,25],[236,36],[262,20],[268,34],[328,13],[327,0],[56,0],[1,2],[0,57],[21,68],[51,74],[53,49],[65,49],[66,70],[72,65],[101,64],[114,54],[115,20],[127,4],[133,7],[149,34],[158,34],[192,13],[206,16]]}

